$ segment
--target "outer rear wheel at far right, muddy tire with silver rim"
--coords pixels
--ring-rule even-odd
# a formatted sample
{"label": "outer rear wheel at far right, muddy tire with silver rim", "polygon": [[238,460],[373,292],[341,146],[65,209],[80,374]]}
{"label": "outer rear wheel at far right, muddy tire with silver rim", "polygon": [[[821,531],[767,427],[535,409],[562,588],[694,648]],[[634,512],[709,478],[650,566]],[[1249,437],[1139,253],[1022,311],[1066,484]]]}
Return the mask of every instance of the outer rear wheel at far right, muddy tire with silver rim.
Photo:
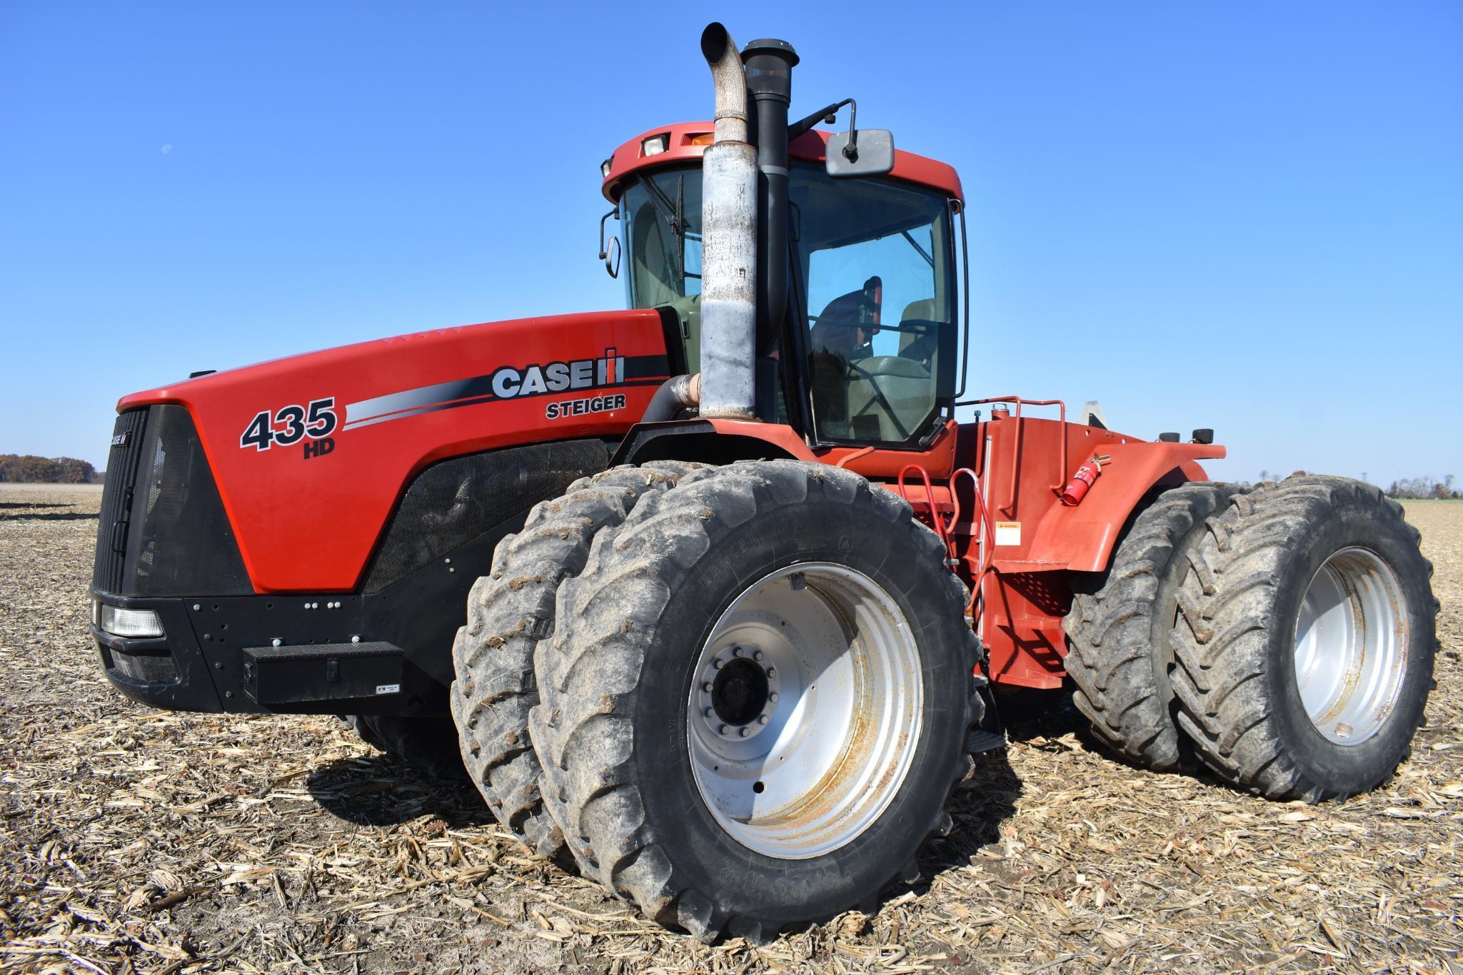
{"label": "outer rear wheel at far right, muddy tire with silver rim", "polygon": [[[1369,484],[1293,477],[1236,494],[1178,593],[1179,726],[1273,800],[1364,792],[1407,754],[1432,687],[1432,566]],[[1302,690],[1304,687],[1304,690]]]}

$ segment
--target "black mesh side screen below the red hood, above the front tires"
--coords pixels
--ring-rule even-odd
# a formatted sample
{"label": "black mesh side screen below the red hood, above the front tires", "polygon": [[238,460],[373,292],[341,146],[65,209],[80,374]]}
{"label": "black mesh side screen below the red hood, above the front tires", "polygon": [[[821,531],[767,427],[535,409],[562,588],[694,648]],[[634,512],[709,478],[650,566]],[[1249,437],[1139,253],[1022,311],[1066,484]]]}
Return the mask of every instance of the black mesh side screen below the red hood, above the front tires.
{"label": "black mesh side screen below the red hood, above the front tires", "polygon": [[477,538],[576,478],[603,471],[600,440],[506,447],[436,463],[407,488],[366,579],[366,592],[391,583]]}

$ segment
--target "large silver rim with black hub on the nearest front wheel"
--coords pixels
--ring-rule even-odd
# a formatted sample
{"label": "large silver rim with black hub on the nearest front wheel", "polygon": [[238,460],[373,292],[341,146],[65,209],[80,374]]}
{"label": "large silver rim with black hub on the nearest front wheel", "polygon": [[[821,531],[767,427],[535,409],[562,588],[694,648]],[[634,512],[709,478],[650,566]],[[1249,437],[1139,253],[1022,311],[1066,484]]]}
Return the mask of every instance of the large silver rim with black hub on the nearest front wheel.
{"label": "large silver rim with black hub on the nearest front wheel", "polygon": [[838,849],[904,784],[923,696],[914,634],[878,583],[832,563],[764,576],[696,658],[686,740],[701,798],[767,857]]}

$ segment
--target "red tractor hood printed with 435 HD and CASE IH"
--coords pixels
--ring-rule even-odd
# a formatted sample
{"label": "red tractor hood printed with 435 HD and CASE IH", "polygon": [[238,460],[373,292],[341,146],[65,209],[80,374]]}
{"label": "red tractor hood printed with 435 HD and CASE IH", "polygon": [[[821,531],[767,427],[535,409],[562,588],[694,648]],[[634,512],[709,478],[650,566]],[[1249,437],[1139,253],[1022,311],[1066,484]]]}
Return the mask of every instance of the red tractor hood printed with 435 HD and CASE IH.
{"label": "red tractor hood printed with 435 HD and CASE IH", "polygon": [[256,592],[348,591],[423,468],[619,439],[670,374],[658,313],[603,311],[293,355],[133,393],[117,409],[187,408]]}

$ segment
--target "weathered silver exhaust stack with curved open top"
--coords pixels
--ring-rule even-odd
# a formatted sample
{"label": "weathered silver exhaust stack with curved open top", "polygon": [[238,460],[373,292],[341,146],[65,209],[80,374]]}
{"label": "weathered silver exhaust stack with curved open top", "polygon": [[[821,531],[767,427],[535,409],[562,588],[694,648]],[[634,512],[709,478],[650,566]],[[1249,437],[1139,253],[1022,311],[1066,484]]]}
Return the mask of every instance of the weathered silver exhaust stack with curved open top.
{"label": "weathered silver exhaust stack with curved open top", "polygon": [[701,32],[715,83],[715,140],[701,159],[701,415],[755,420],[756,148],[746,72],[727,29]]}

